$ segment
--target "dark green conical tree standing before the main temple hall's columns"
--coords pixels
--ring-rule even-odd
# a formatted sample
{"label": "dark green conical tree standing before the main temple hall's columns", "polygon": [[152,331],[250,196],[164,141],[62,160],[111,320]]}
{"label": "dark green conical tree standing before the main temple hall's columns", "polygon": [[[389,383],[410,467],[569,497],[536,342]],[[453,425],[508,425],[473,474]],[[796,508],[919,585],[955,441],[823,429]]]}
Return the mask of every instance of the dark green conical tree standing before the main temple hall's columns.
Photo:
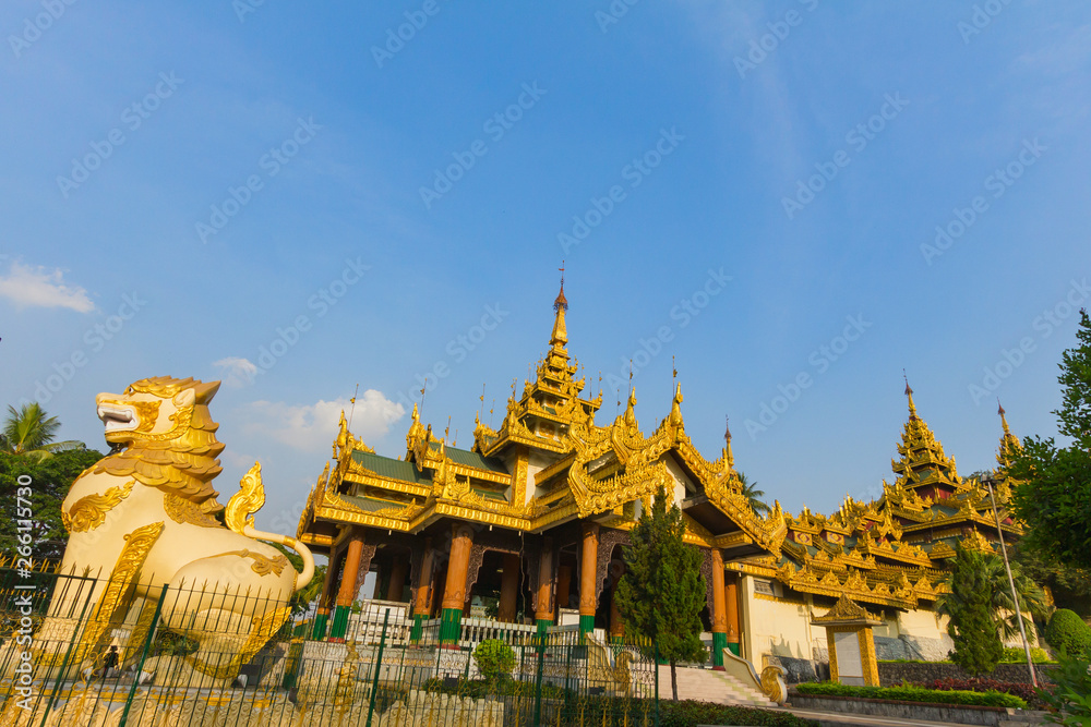
{"label": "dark green conical tree standing before the main temple hall's columns", "polygon": [[678,699],[679,662],[702,662],[700,609],[705,606],[705,579],[700,552],[683,541],[682,510],[662,488],[650,510],[645,510],[623,550],[625,573],[618,583],[618,608],[625,631],[647,640],[645,655],[671,665],[671,690]]}

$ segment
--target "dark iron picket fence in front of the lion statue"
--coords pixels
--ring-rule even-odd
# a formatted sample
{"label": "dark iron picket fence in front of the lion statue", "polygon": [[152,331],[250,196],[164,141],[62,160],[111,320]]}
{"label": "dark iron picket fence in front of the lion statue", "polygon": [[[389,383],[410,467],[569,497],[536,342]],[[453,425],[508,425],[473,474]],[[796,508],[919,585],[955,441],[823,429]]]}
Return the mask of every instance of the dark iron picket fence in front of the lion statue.
{"label": "dark iron picket fence in front of the lion statue", "polygon": [[659,724],[654,644],[520,627],[440,646],[392,611],[315,641],[262,594],[0,568],[0,726]]}

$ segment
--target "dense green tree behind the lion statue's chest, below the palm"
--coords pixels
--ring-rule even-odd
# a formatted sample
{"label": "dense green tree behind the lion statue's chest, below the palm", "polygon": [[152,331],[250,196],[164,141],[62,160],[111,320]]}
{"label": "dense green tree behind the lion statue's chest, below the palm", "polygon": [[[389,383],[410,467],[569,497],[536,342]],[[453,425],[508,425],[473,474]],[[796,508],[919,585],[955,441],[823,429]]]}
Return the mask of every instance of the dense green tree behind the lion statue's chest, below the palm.
{"label": "dense green tree behind the lion statue's chest, below the palm", "polygon": [[33,532],[33,557],[59,561],[64,554],[68,533],[61,522],[61,501],[80,474],[103,458],[93,449],[70,449],[57,452],[48,459],[37,459],[0,452],[0,553],[15,553],[19,538],[16,498],[19,478],[31,478],[29,520],[35,523]]}

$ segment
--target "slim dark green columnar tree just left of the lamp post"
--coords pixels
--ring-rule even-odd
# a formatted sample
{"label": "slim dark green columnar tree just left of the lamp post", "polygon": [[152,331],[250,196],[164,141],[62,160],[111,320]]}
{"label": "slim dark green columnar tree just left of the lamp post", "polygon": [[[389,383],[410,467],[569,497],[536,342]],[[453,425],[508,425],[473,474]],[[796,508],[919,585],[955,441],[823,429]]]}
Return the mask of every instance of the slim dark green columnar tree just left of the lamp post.
{"label": "slim dark green columnar tree just left of the lamp post", "polygon": [[950,591],[936,602],[936,611],[950,619],[951,661],[973,675],[992,673],[1004,645],[993,617],[994,584],[984,554],[958,544],[947,586]]}

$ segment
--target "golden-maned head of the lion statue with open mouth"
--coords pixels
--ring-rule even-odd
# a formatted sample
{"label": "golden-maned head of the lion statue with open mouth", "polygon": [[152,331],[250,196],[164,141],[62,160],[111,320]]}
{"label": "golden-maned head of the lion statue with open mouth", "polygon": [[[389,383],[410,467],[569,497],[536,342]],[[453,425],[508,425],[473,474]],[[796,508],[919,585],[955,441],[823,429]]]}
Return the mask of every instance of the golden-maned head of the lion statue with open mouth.
{"label": "golden-maned head of the lion statue with open mouth", "polygon": [[121,451],[103,459],[95,473],[133,477],[204,512],[223,509],[211,484],[223,471],[216,459],[224,451],[219,425],[208,413],[218,390],[219,381],[157,376],[134,381],[124,393],[99,393],[106,441]]}

